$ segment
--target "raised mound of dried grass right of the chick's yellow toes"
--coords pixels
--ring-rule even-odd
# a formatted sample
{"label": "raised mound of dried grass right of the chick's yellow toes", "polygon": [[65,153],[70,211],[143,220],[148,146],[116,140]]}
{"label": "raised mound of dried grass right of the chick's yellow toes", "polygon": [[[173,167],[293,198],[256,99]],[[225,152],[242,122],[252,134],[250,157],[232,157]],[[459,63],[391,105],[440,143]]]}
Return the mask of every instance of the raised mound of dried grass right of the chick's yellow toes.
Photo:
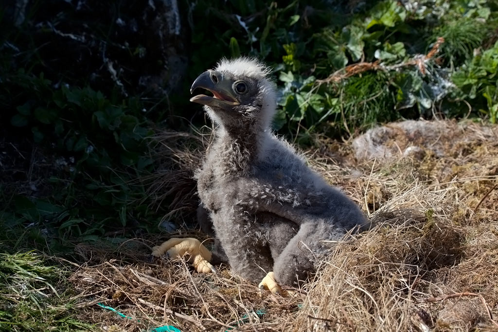
{"label": "raised mound of dried grass right of the chick's yellow toes", "polygon": [[438,290],[438,273],[463,255],[464,232],[448,218],[445,194],[408,191],[374,214],[371,230],[339,243],[323,262],[295,331],[411,329],[410,316],[423,309],[416,300]]}

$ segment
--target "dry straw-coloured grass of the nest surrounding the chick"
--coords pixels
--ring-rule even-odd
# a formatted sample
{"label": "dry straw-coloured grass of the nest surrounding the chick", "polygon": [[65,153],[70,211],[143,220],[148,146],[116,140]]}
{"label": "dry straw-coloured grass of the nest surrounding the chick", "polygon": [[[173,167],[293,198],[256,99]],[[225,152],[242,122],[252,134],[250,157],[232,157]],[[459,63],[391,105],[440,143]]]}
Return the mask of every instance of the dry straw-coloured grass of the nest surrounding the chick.
{"label": "dry straw-coloured grass of the nest surrounding the chick", "polygon": [[[372,227],[331,243],[334,250],[315,278],[294,297],[262,294],[226,267],[199,275],[182,261],[145,262],[149,247],[167,237],[206,239],[184,231],[130,241],[114,253],[79,246],[88,263],[70,280],[82,313],[107,331],[162,325],[181,331],[497,331],[497,128],[458,128],[438,136],[442,154],[431,150],[434,142],[417,139],[423,153],[416,156],[400,151],[356,160],[351,144],[323,139],[320,149],[305,151],[315,169],[362,206]],[[165,157],[179,173],[165,173],[166,182],[153,191],[183,188],[186,199],[171,208],[188,219],[195,196],[181,174],[197,165],[200,150],[192,154],[181,146]]]}

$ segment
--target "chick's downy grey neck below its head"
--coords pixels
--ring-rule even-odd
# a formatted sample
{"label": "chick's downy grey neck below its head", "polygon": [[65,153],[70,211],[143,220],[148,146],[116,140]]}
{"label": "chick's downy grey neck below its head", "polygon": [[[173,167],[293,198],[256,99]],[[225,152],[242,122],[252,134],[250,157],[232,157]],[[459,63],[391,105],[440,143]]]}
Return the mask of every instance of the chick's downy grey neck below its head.
{"label": "chick's downy grey neck below its head", "polygon": [[255,124],[247,128],[220,128],[215,143],[225,173],[249,176],[262,153],[269,130]]}

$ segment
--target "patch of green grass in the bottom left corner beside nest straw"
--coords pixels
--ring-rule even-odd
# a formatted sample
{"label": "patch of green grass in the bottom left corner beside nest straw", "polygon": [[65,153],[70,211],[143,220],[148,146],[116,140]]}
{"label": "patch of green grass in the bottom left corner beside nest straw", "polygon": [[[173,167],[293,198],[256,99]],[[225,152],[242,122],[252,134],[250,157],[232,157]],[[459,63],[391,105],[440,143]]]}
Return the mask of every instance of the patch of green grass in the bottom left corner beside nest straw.
{"label": "patch of green grass in the bottom left corner beside nest straw", "polygon": [[98,331],[76,317],[68,273],[33,251],[0,253],[0,331]]}

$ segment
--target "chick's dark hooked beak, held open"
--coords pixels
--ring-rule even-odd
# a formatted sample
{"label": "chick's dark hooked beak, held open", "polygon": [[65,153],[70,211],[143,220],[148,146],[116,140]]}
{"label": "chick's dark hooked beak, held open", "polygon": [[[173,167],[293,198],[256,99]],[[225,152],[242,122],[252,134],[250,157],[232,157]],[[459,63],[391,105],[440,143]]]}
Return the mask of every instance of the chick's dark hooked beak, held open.
{"label": "chick's dark hooked beak, held open", "polygon": [[203,88],[210,91],[213,94],[213,97],[197,95],[190,98],[190,101],[221,108],[240,105],[239,101],[234,96],[232,83],[231,80],[224,79],[222,73],[215,70],[208,70],[195,79],[190,88],[190,93],[193,93],[197,88]]}

